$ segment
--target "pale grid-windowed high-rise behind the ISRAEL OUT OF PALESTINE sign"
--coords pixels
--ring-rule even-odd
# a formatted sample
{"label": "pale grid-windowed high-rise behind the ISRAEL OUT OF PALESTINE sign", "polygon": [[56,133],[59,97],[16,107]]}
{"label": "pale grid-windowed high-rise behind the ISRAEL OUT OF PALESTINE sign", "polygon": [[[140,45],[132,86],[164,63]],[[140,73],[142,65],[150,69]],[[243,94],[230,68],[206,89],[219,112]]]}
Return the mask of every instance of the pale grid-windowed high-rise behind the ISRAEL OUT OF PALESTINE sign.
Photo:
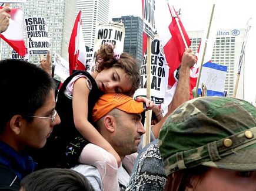
{"label": "pale grid-windowed high-rise behind the ISRAEL OUT OF PALESTINE sign", "polygon": [[[71,32],[75,22],[77,1],[69,0],[27,0],[22,4],[11,4],[12,8],[19,8],[24,11],[24,17],[40,16],[46,20],[49,28],[49,40],[51,44],[51,55],[55,53],[68,60],[68,45]],[[27,41],[27,34],[24,28],[24,39]],[[5,42],[2,43],[2,59],[10,58],[11,47]],[[39,64],[38,55],[30,55],[29,61]]]}

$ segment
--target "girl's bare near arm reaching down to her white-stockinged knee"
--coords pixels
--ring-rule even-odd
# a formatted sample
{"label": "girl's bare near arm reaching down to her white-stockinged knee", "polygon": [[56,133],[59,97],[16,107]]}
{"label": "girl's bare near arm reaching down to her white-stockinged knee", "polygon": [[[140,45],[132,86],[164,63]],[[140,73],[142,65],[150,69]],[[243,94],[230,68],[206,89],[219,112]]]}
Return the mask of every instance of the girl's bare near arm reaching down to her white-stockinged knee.
{"label": "girl's bare near arm reaching down to her white-stockinged knee", "polygon": [[75,127],[78,129],[82,137],[87,139],[92,144],[101,146],[101,148],[110,152],[117,159],[118,166],[121,163],[121,158],[115,152],[109,142],[102,137],[95,127],[88,121],[88,96],[89,88],[87,87],[87,79],[79,78],[75,81],[73,92],[73,115]]}

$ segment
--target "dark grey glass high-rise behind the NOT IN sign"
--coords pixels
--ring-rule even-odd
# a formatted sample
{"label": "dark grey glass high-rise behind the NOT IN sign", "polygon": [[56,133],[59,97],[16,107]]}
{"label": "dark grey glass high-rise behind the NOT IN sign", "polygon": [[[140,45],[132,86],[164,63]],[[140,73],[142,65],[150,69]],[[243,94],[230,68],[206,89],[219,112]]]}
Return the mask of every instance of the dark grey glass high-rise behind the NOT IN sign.
{"label": "dark grey glass high-rise behind the NOT IN sign", "polygon": [[121,21],[125,26],[124,52],[134,56],[138,65],[141,66],[142,55],[142,19],[138,16],[122,16],[121,18],[113,18],[112,21]]}

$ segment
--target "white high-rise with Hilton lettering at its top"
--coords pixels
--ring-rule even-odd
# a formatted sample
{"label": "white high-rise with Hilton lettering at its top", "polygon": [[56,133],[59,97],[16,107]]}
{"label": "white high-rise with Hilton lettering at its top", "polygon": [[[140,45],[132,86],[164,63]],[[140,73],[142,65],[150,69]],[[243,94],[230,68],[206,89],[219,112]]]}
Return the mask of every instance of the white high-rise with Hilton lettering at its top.
{"label": "white high-rise with Hilton lettering at its top", "polygon": [[[232,97],[234,94],[244,33],[245,29],[223,29],[218,30],[215,36],[211,62],[228,66],[225,81],[225,91],[227,91],[228,97]],[[188,36],[191,39],[192,50],[197,52],[202,31],[189,31]],[[244,66],[242,66],[236,97],[244,98]]]}

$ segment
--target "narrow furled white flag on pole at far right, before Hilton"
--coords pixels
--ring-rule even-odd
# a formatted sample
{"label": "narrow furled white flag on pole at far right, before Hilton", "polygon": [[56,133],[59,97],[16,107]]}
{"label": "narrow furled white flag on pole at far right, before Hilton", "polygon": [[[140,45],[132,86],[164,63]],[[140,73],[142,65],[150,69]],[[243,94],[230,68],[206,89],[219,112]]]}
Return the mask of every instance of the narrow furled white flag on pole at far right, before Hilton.
{"label": "narrow furled white flag on pole at far right, before Hilton", "polygon": [[245,29],[245,34],[244,34],[244,42],[242,42],[242,49],[241,49],[241,53],[240,53],[238,72],[237,72],[237,80],[235,81],[235,89],[234,89],[233,98],[235,98],[237,96],[237,88],[238,88],[238,83],[239,83],[239,79],[240,79],[242,63],[244,63],[245,45],[247,43],[248,32],[251,29],[250,20],[251,20],[251,18],[248,19],[248,21],[247,21],[247,28]]}

